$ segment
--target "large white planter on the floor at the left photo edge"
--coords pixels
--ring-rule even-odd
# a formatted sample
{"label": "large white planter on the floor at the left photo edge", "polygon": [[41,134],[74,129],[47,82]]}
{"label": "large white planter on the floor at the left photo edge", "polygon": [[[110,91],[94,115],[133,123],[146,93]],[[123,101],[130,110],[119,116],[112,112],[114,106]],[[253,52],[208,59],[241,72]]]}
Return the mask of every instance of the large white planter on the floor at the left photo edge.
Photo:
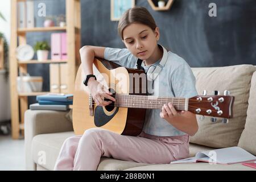
{"label": "large white planter on the floor at the left photo edge", "polygon": [[0,70],[0,123],[11,119],[10,85],[5,70]]}

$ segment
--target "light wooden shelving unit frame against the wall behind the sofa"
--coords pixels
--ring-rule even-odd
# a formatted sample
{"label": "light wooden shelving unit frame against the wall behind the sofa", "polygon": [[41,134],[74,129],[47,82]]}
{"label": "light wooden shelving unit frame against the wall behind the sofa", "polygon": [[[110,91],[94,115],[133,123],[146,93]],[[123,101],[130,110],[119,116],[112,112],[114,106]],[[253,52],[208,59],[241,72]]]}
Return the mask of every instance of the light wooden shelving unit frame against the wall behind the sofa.
{"label": "light wooden shelving unit frame against the wall behind the sofa", "polygon": [[[65,0],[66,27],[17,27],[17,4],[26,0],[11,0],[11,40],[10,40],[10,92],[11,92],[11,127],[13,139],[18,139],[20,131],[24,131],[24,112],[28,109],[28,97],[49,92],[18,93],[16,88],[18,72],[27,73],[27,64],[67,63],[68,92],[73,93],[76,72],[80,64],[79,49],[81,47],[81,9],[80,0]],[[53,1],[53,0],[52,0]],[[64,1],[64,0],[63,0]],[[18,61],[15,49],[19,44],[26,44],[29,32],[65,31],[67,32],[67,60],[30,60]],[[19,116],[20,113],[20,116]]]}

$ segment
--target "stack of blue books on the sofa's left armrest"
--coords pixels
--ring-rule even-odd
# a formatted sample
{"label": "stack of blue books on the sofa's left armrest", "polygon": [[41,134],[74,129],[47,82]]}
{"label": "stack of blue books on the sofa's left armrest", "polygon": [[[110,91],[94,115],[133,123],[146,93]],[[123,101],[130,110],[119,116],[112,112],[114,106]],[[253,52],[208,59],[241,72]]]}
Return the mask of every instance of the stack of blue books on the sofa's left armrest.
{"label": "stack of blue books on the sofa's left armrest", "polygon": [[73,105],[73,94],[46,94],[36,96],[38,103],[31,104],[31,110],[68,110]]}

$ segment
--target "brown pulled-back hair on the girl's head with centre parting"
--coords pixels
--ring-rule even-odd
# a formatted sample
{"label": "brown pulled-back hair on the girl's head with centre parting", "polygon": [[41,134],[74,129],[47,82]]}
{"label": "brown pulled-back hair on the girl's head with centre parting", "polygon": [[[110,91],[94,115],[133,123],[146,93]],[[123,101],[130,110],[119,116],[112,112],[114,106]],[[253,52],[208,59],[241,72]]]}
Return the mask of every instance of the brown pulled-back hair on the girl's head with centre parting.
{"label": "brown pulled-back hair on the girl's head with centre parting", "polygon": [[141,23],[150,27],[153,31],[157,27],[155,20],[149,11],[144,7],[133,7],[126,10],[118,22],[118,34],[123,40],[123,30],[131,23]]}

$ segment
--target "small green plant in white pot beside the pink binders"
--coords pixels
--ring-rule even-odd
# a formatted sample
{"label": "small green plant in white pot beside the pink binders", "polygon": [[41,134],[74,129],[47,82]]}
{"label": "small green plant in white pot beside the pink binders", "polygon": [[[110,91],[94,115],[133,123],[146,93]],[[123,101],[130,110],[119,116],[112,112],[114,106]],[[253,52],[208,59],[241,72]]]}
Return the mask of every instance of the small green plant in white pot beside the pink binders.
{"label": "small green plant in white pot beside the pink binders", "polygon": [[34,46],[34,50],[36,51],[36,55],[38,56],[38,60],[47,60],[48,59],[48,54],[49,54],[49,44],[46,41],[42,42],[36,42]]}

